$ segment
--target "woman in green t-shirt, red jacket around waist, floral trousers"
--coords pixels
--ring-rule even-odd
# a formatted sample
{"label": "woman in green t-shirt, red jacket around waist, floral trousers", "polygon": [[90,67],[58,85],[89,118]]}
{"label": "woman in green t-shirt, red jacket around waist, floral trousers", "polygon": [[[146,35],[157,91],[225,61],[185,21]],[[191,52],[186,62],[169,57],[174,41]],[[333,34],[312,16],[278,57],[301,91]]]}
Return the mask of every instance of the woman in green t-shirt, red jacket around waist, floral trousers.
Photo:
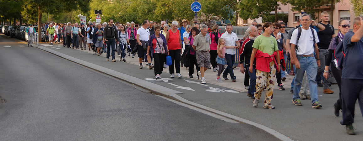
{"label": "woman in green t-shirt, red jacket around waist, floral trousers", "polygon": [[[278,47],[276,38],[271,36],[274,30],[272,22],[266,22],[262,27],[264,34],[258,36],[253,42],[253,50],[250,59],[250,64],[256,57],[256,92],[254,93],[254,101],[252,105],[257,107],[258,101],[261,98],[262,91],[266,86],[266,94],[264,100],[264,108],[275,109],[271,104],[273,98],[273,86],[276,71],[280,71],[280,55],[278,55]],[[249,71],[252,72],[253,66],[250,65]],[[275,69],[276,68],[276,69]]]}

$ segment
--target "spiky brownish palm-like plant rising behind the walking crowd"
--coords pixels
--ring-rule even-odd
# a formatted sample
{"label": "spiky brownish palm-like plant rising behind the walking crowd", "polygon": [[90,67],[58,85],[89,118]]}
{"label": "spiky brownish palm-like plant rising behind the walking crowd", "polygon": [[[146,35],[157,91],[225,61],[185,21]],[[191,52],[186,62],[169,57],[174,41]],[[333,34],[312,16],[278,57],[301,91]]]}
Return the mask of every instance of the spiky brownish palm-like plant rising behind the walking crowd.
{"label": "spiky brownish palm-like plant rising behind the walking crowd", "polygon": [[216,21],[222,22],[224,18],[222,16],[213,16],[213,14],[203,13],[201,12],[200,16],[193,18],[191,22],[197,22],[199,24],[205,24],[208,28],[212,28],[213,25],[216,24]]}

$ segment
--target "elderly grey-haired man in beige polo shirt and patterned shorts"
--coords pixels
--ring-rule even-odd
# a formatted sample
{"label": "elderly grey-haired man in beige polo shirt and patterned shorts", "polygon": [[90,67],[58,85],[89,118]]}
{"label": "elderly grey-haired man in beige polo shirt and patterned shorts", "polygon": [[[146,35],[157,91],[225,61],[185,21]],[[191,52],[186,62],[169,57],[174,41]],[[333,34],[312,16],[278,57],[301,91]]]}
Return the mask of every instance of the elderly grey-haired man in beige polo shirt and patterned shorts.
{"label": "elderly grey-haired man in beige polo shirt and patterned shorts", "polygon": [[200,71],[198,71],[198,79],[202,84],[205,83],[204,72],[208,70],[208,67],[211,64],[211,55],[209,54],[209,50],[211,48],[209,45],[211,44],[211,39],[209,38],[208,26],[205,24],[200,24],[201,34],[198,34],[194,37],[193,41],[193,49],[196,50],[197,63],[200,67]]}

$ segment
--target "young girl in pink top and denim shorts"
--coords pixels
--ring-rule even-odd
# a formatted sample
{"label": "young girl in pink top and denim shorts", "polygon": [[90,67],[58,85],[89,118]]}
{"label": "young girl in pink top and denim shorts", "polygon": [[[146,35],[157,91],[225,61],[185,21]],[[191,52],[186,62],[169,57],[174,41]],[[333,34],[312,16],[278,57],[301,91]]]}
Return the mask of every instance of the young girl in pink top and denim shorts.
{"label": "young girl in pink top and denim shorts", "polygon": [[224,65],[225,65],[224,55],[226,54],[226,47],[224,46],[224,43],[225,43],[225,41],[224,41],[223,38],[218,39],[218,45],[217,45],[218,56],[216,58],[216,61],[217,61],[218,67],[219,67],[219,70],[218,70],[218,73],[217,73],[217,81],[218,82],[223,82],[221,80],[221,73],[224,70]]}

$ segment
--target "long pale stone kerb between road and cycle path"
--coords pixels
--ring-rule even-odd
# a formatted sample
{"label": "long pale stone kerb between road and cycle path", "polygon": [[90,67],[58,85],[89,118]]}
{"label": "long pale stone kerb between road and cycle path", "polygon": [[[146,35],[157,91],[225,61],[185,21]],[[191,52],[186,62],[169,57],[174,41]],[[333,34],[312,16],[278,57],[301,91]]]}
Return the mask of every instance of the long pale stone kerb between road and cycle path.
{"label": "long pale stone kerb between road and cycle path", "polygon": [[164,96],[164,97],[167,97],[167,98],[170,98],[170,99],[173,99],[173,100],[176,100],[176,101],[191,105],[193,107],[197,107],[197,108],[203,109],[205,111],[212,112],[212,113],[215,113],[215,114],[223,116],[223,117],[227,117],[229,119],[238,121],[240,123],[246,123],[246,124],[252,125],[254,127],[260,128],[260,129],[270,133],[272,136],[275,136],[276,138],[278,138],[278,139],[280,139],[282,141],[292,141],[291,138],[285,136],[284,134],[281,134],[281,133],[277,132],[274,129],[271,129],[271,128],[266,127],[264,125],[255,123],[253,121],[243,119],[241,117],[237,117],[237,116],[234,116],[234,115],[222,112],[222,111],[218,111],[218,110],[213,109],[213,108],[206,107],[204,105],[194,103],[192,101],[188,101],[187,99],[184,99],[181,96],[177,95],[177,94],[182,94],[182,92],[172,90],[170,88],[163,87],[163,86],[160,86],[160,85],[155,85],[154,83],[148,82],[146,80],[135,78],[134,76],[126,75],[126,74],[123,74],[121,72],[108,69],[106,67],[95,65],[93,63],[86,62],[86,61],[83,61],[81,59],[71,57],[69,55],[60,53],[60,52],[52,50],[52,49],[48,49],[46,47],[42,47],[42,46],[38,46],[38,45],[34,45],[34,46],[37,47],[38,49],[41,49],[41,50],[44,50],[44,51],[49,52],[51,54],[57,55],[58,57],[64,58],[64,59],[69,60],[71,62],[74,62],[74,63],[77,63],[79,65],[88,67],[88,68],[93,69],[95,71],[102,72],[102,73],[110,75],[112,77],[121,79],[123,81],[134,84],[136,86],[142,87],[142,88],[144,88],[146,90],[151,91],[153,94]]}

